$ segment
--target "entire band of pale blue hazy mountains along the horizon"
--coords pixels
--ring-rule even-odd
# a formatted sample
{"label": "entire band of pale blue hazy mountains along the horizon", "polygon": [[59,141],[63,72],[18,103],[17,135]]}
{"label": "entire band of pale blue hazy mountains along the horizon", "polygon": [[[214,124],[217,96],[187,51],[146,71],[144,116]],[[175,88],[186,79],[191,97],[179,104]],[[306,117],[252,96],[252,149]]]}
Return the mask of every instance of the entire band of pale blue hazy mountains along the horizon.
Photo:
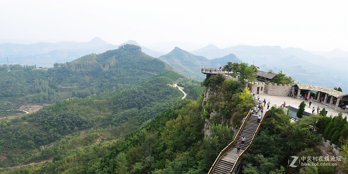
{"label": "entire band of pale blue hazy mountains along the horizon", "polygon": [[[133,40],[124,44],[141,46]],[[182,45],[185,49],[197,48],[195,51],[185,51],[174,45]],[[274,72],[282,70],[303,84],[311,84],[333,88],[341,86],[343,92],[348,89],[348,80],[343,76],[348,73],[345,61],[348,52],[339,49],[330,52],[309,52],[301,48],[288,47],[282,49],[280,46],[250,46],[237,45],[224,49],[209,44],[200,49],[200,44],[187,42],[158,42],[142,47],[142,51],[150,56],[159,58],[177,70],[203,80],[204,75],[200,73],[200,67],[219,67],[232,62],[254,63],[261,71],[272,69]],[[118,49],[119,45],[109,44],[99,37],[89,42],[58,42],[35,44],[0,44],[0,64],[6,64],[6,56],[10,64],[36,64],[37,67],[53,67],[55,62],[68,62],[82,55],[90,53],[102,53],[107,50]],[[174,50],[173,50],[174,48]],[[170,50],[172,51],[170,51]],[[169,50],[167,54],[165,54]],[[162,52],[161,52],[162,51]]]}

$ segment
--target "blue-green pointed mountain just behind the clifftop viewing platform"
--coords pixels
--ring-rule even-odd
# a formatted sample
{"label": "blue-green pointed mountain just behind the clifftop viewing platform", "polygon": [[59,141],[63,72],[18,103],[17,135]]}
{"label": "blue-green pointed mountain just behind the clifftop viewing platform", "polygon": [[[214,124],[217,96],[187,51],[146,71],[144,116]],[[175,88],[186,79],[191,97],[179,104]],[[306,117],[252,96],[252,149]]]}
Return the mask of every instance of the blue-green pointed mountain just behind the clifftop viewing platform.
{"label": "blue-green pointed mountain just behind the clifftop viewing platform", "polygon": [[201,67],[216,67],[224,66],[227,62],[241,61],[234,54],[223,56],[222,58],[215,58],[209,60],[204,56],[193,55],[185,50],[175,47],[173,51],[166,55],[162,55],[159,59],[170,64],[177,70],[194,77],[198,80],[204,80],[205,75],[201,73]]}

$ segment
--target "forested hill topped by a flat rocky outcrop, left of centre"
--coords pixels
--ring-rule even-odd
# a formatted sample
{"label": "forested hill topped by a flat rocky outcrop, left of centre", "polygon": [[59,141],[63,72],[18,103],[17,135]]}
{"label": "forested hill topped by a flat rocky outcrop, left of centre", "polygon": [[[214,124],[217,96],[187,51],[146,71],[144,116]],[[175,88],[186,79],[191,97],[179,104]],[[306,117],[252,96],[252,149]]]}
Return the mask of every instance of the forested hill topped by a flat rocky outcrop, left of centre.
{"label": "forested hill topped by a flat rocky outcrop, left of centre", "polygon": [[89,54],[55,68],[36,69],[35,66],[0,66],[0,110],[14,110],[26,102],[56,103],[69,97],[86,97],[119,86],[138,83],[170,66],[140,51],[135,45],[102,54]]}

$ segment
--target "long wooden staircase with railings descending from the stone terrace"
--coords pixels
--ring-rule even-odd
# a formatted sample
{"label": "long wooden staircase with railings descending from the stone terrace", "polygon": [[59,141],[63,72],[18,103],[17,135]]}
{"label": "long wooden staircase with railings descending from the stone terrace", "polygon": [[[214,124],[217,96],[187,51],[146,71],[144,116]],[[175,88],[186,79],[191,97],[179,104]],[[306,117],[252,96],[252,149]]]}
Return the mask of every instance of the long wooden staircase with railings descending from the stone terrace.
{"label": "long wooden staircase with railings descending from the stone terrace", "polygon": [[[269,115],[270,111],[264,112],[261,119]],[[260,128],[260,124],[257,123],[258,116],[247,115],[242,126],[240,127],[234,141],[232,141],[225,149],[221,151],[212,168],[208,174],[229,174],[235,169],[235,164],[241,160],[241,155],[246,154],[249,151],[252,140],[256,137],[256,134]],[[245,143],[242,145],[242,137],[245,137]],[[237,154],[237,146],[240,143],[241,148]]]}

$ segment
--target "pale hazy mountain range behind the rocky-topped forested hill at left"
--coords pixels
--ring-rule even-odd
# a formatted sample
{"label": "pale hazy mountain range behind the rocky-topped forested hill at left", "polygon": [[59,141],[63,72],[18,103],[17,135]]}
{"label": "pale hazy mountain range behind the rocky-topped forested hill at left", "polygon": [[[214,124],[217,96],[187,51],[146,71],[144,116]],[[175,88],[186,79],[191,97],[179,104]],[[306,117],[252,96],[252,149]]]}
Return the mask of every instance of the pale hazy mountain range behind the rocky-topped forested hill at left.
{"label": "pale hazy mountain range behind the rocky-topped forested hill at left", "polygon": [[[135,41],[127,41],[124,44],[141,46]],[[89,42],[39,42],[34,44],[0,44],[0,64],[6,64],[6,56],[10,64],[31,65],[38,67],[53,67],[55,62],[68,62],[90,53],[103,53],[107,50],[118,49],[120,45],[109,44],[100,37],[95,37]],[[164,53],[142,47],[144,53],[158,58]]]}

